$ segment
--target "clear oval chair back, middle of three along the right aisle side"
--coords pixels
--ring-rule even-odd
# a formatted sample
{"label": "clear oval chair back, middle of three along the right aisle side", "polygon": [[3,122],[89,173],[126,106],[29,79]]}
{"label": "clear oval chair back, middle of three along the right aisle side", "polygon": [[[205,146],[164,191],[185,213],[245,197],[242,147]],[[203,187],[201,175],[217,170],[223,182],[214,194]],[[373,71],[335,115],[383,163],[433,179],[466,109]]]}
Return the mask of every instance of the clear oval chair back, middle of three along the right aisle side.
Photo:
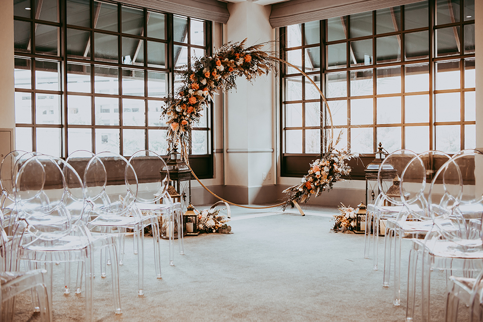
{"label": "clear oval chair back, middle of three along the right aisle side", "polygon": [[430,220],[428,206],[428,181],[451,157],[438,150],[429,150],[415,156],[406,166],[401,177],[401,200],[413,217]]}

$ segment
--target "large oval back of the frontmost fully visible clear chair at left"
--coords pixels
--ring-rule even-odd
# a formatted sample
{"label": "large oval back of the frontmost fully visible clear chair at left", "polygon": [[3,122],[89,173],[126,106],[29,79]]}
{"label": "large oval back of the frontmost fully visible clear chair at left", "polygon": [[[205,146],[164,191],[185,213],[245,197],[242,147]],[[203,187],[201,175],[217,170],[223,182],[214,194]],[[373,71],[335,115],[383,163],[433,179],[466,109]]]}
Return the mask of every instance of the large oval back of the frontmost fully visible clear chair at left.
{"label": "large oval back of the frontmost fully visible clear chair at left", "polygon": [[54,240],[69,234],[81,223],[84,206],[70,211],[71,193],[67,187],[64,170],[70,180],[76,181],[85,200],[82,180],[64,160],[47,155],[27,159],[15,179],[14,196],[18,216],[29,223],[29,231],[40,239]]}

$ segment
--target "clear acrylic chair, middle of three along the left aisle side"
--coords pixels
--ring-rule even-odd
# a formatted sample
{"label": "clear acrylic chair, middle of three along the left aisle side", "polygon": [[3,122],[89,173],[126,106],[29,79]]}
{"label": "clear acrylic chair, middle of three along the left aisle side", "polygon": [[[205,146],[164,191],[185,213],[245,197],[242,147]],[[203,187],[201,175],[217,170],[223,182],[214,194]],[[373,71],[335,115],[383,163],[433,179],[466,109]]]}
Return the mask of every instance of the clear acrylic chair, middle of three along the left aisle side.
{"label": "clear acrylic chair, middle of three along the left aisle side", "polygon": [[[106,192],[107,178],[118,179],[114,186],[112,199]],[[89,222],[91,229],[101,228],[101,234],[119,237],[119,263],[122,265],[124,253],[124,236],[127,229],[138,233],[138,295],[142,296],[144,277],[144,227],[151,225],[153,231],[159,230],[157,216],[143,216],[135,204],[138,181],[134,168],[128,160],[116,153],[100,152],[91,158],[84,172],[84,186],[87,199],[93,207],[95,219]],[[156,276],[160,276],[159,240],[153,238]],[[104,253],[101,253],[101,266],[105,265]]]}

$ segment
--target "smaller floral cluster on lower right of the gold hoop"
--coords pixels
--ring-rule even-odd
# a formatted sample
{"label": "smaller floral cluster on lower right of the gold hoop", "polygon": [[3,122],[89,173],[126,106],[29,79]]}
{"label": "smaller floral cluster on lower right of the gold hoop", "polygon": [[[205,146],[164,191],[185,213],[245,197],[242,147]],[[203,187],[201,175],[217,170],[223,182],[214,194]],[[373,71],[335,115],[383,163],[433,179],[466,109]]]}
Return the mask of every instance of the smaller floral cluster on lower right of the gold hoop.
{"label": "smaller floral cluster on lower right of the gold hoop", "polygon": [[[340,140],[340,135],[334,145]],[[320,196],[323,191],[331,190],[336,182],[344,181],[342,176],[348,176],[351,172],[351,167],[346,163],[353,155],[346,150],[336,150],[329,146],[329,152],[322,155],[321,158],[312,161],[308,174],[303,176],[302,182],[299,185],[292,186],[285,189],[283,192],[289,195],[288,200],[283,206],[283,210],[292,204],[307,202],[312,195]]]}

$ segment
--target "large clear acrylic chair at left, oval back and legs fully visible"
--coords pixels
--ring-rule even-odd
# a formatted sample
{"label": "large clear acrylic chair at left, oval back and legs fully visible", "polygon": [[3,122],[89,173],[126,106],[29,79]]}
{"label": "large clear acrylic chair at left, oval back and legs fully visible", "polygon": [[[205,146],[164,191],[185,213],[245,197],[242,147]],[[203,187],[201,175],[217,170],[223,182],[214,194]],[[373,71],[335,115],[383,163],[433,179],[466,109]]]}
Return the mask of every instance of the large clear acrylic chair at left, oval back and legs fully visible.
{"label": "large clear acrylic chair at left, oval back and legs fully visible", "polygon": [[[50,188],[50,189],[49,189]],[[87,227],[89,218],[86,190],[81,178],[64,160],[46,155],[25,161],[16,175],[14,196],[17,218],[14,224],[12,252],[19,260],[44,263],[49,272],[49,302],[52,299],[52,265],[57,262],[84,262],[86,280],[86,320],[93,320],[93,253],[107,248],[117,258],[112,236],[93,236]],[[47,203],[45,203],[45,198]],[[25,220],[28,226],[19,229]],[[17,241],[18,240],[18,243]],[[112,288],[115,313],[121,313],[119,271],[112,265]]]}

